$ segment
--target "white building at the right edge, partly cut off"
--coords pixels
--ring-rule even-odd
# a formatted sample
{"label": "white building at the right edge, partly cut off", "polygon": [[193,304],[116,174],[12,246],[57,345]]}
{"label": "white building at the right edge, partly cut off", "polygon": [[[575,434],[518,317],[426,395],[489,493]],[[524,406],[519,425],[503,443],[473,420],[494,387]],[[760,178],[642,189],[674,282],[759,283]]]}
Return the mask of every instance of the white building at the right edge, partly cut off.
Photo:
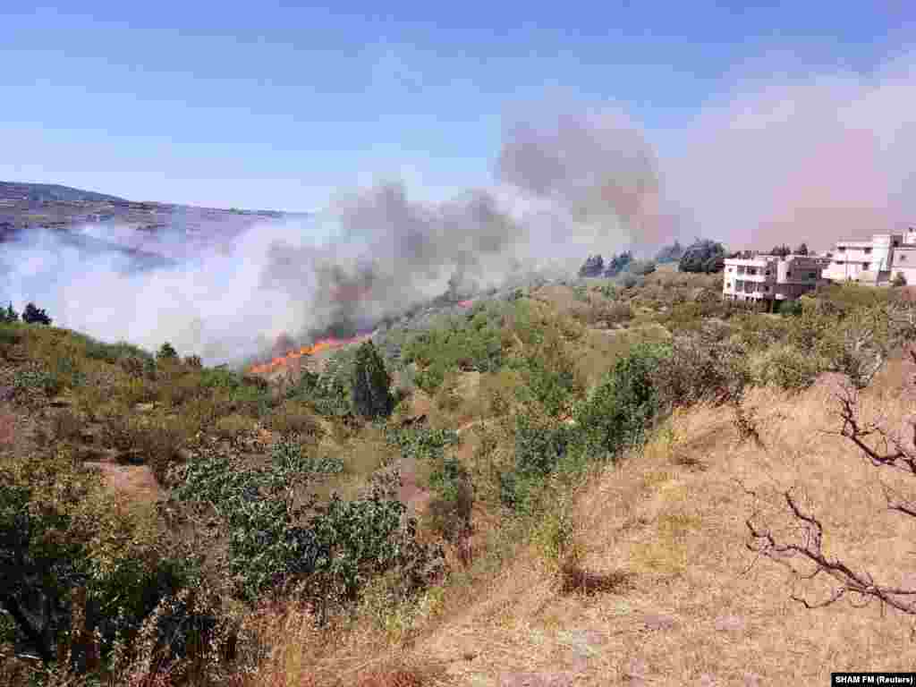
{"label": "white building at the right edge, partly cut off", "polygon": [[916,283],[916,227],[906,234],[874,234],[870,241],[837,241],[823,277],[863,284],[888,283],[902,274]]}

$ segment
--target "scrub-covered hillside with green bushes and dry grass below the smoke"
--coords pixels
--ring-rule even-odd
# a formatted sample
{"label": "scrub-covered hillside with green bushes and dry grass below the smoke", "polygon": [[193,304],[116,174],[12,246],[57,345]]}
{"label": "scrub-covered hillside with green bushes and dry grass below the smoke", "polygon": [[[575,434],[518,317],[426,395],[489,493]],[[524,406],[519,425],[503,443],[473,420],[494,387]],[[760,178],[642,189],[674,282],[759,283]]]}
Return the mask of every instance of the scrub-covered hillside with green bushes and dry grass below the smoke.
{"label": "scrub-covered hillside with green bushes and dry grass below the smoke", "polygon": [[[278,383],[6,317],[0,682],[904,665],[910,501],[895,483],[883,502],[875,471],[916,463],[907,291],[830,287],[770,314],[671,267],[389,322]],[[812,549],[805,528],[829,533]],[[856,594],[895,615],[792,601]]]}

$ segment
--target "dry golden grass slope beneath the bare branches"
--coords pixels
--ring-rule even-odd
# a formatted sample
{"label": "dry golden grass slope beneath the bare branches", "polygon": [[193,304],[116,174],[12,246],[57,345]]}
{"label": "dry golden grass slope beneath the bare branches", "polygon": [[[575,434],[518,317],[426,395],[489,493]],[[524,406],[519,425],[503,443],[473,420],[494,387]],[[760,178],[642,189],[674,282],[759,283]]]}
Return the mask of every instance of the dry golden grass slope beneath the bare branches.
{"label": "dry golden grass slope beneath the bare branches", "polygon": [[[898,426],[914,407],[903,380],[892,362],[863,398],[864,412]],[[644,452],[578,497],[578,536],[587,545],[580,579],[605,581],[602,593],[564,594],[534,554],[522,553],[478,583],[471,605],[474,596],[463,594],[463,608],[450,606],[417,654],[449,662],[456,684],[481,685],[508,671],[573,671],[577,685],[608,684],[636,664],[647,682],[672,685],[703,674],[740,684],[749,672],[767,684],[909,671],[910,618],[877,605],[805,610],[792,591],[816,600],[825,590],[798,588],[771,562],[751,565],[745,548],[755,502],[736,480],[761,495],[802,489],[829,528],[830,555],[876,579],[899,582],[912,570],[916,523],[889,513],[875,469],[845,439],[823,433],[837,429],[833,383],[822,378],[796,397],[752,392],[747,404],[757,410],[763,448],[740,442],[722,409],[675,417]],[[774,506],[769,523],[791,533],[779,499],[765,500]],[[590,637],[584,646],[582,635]]]}

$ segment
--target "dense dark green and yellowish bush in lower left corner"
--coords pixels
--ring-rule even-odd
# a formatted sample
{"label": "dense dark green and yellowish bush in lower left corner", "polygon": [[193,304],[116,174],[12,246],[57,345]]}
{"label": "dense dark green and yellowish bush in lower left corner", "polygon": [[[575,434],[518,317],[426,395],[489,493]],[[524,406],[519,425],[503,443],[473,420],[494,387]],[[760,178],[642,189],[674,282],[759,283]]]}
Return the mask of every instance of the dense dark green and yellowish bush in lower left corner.
{"label": "dense dark green and yellowish bush in lower left corner", "polygon": [[[193,584],[194,562],[171,558],[143,511],[113,503],[97,474],[65,453],[0,464],[0,604],[16,638],[49,661],[71,630],[73,593],[104,649],[136,632],[166,594]],[[74,659],[81,657],[75,656]],[[82,657],[84,658],[84,657]]]}

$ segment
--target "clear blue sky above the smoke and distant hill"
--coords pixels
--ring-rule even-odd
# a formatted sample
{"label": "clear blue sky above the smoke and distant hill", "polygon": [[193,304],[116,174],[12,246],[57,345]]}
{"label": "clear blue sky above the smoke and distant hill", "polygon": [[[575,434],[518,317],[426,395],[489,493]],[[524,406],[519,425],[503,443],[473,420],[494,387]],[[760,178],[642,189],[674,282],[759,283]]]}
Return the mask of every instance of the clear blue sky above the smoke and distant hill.
{"label": "clear blue sky above the smoke and distant hill", "polygon": [[908,49],[911,5],[5,0],[0,180],[287,210],[379,178],[442,198],[492,181],[511,108],[622,104],[664,145],[738,75],[877,68]]}

